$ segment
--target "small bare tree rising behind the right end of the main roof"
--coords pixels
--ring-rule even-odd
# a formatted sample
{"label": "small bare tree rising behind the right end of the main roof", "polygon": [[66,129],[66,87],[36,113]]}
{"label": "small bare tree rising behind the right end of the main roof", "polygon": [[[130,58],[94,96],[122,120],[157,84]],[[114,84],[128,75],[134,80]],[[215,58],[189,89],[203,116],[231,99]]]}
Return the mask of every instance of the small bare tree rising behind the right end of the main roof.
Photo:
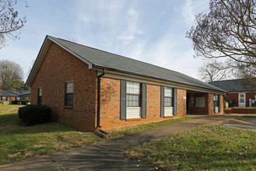
{"label": "small bare tree rising behind the right end of the main roof", "polygon": [[213,82],[223,79],[230,79],[230,68],[224,68],[223,64],[218,61],[207,61],[198,68],[198,76],[204,82]]}

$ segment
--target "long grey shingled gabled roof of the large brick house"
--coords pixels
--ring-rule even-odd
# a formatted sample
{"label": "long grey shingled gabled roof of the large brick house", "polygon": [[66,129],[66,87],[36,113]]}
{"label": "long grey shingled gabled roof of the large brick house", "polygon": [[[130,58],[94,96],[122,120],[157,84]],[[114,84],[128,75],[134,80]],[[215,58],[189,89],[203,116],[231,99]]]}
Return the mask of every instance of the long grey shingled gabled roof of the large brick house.
{"label": "long grey shingled gabled roof of the large brick house", "polygon": [[44,44],[40,49],[37,60],[35,61],[29,78],[26,81],[26,86],[31,86],[33,79],[40,68],[40,64],[44,60],[44,55],[47,53],[47,50],[51,45],[51,42],[58,44],[66,51],[74,54],[75,57],[88,64],[89,68],[105,68],[107,71],[121,72],[150,79],[174,82],[186,86],[195,86],[218,92],[226,92],[223,89],[206,84],[205,82],[201,82],[198,79],[191,78],[190,76],[181,74],[180,72],[174,72],[167,68],[161,68],[146,62],[137,61],[132,58],[126,58],[118,54],[112,54],[107,51],[101,51],[92,47],[86,47],[82,44],[75,44],[74,42],[68,40],[50,36],[47,36],[44,40]]}

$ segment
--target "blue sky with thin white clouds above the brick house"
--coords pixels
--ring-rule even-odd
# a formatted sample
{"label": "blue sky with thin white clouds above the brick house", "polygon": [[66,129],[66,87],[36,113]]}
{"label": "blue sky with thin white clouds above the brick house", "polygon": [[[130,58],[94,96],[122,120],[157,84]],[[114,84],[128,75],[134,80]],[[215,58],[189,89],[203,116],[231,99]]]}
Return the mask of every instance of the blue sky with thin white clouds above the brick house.
{"label": "blue sky with thin white clouds above the brick house", "polygon": [[14,9],[27,23],[19,40],[0,49],[0,60],[19,64],[24,81],[46,35],[199,79],[202,58],[193,57],[185,36],[209,0],[18,0]]}

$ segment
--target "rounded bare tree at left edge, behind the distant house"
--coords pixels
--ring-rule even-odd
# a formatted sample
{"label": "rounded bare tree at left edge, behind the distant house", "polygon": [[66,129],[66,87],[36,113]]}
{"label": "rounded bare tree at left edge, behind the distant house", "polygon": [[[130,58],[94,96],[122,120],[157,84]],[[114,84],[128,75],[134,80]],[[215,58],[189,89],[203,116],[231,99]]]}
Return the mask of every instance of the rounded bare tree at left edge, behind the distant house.
{"label": "rounded bare tree at left edge, behind the distant house", "polygon": [[2,89],[17,90],[23,86],[23,69],[13,61],[0,61],[0,82]]}

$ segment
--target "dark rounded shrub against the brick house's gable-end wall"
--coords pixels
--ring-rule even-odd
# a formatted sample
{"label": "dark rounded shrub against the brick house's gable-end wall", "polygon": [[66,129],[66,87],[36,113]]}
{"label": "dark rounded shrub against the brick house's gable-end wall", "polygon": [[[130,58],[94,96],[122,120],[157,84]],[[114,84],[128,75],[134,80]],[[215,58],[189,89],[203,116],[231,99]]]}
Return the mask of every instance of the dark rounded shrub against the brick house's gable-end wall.
{"label": "dark rounded shrub against the brick house's gable-end wall", "polygon": [[51,108],[41,104],[19,107],[19,118],[27,126],[43,124],[51,120]]}

